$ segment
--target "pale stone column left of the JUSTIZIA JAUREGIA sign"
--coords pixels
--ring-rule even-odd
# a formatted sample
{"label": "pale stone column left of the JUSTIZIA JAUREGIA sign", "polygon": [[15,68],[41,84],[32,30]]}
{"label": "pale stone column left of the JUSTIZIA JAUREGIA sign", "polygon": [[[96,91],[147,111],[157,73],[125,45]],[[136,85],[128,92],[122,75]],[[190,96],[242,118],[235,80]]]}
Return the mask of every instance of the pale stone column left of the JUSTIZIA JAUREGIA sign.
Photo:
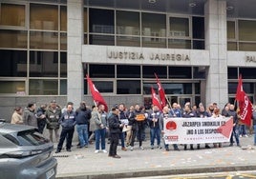
{"label": "pale stone column left of the JUSTIZIA JAUREGIA sign", "polygon": [[83,100],[83,0],[68,0],[68,97],[75,108]]}

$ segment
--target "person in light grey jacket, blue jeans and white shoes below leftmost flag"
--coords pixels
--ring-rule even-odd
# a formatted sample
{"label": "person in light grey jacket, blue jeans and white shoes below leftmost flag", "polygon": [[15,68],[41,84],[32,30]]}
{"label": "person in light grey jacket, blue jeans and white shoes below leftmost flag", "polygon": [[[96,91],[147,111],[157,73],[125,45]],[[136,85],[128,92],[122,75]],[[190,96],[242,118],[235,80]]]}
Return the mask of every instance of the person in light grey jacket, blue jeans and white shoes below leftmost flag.
{"label": "person in light grey jacket, blue jeans and white shoes below leftmost flag", "polygon": [[104,105],[99,105],[96,111],[92,112],[92,117],[96,123],[96,150],[95,153],[99,152],[99,141],[101,141],[101,149],[104,153],[106,150],[106,128],[107,128],[107,113],[104,111]]}

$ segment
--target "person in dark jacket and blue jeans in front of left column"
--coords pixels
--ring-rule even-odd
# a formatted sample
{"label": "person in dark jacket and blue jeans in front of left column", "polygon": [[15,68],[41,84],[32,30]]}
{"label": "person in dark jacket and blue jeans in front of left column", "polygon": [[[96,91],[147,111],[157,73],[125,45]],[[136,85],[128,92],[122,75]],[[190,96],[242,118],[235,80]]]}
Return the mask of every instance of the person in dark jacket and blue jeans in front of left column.
{"label": "person in dark jacket and blue jeans in front of left column", "polygon": [[90,123],[91,110],[86,108],[84,101],[80,103],[79,109],[76,109],[76,129],[79,138],[80,148],[88,148],[88,125]]}

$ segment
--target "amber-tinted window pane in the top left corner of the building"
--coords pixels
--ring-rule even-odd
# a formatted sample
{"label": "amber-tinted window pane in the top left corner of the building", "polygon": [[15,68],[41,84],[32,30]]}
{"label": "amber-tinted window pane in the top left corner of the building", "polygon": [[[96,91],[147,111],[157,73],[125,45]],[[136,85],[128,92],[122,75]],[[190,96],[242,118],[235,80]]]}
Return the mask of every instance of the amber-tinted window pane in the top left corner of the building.
{"label": "amber-tinted window pane in the top left corner of the building", "polygon": [[25,27],[25,5],[1,4],[0,25]]}

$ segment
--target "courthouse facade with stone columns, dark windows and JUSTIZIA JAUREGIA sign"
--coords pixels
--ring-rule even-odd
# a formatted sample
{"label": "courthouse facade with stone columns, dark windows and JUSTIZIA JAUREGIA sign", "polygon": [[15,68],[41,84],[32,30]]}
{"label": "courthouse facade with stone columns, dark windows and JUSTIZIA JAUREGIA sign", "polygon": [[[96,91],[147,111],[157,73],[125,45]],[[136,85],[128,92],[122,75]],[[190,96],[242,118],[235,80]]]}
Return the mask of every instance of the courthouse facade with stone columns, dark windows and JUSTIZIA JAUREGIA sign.
{"label": "courthouse facade with stone columns, dark windows and JUSTIZIA JAUREGIA sign", "polygon": [[151,103],[157,73],[170,103],[255,104],[254,0],[1,0],[0,118],[55,99]]}

